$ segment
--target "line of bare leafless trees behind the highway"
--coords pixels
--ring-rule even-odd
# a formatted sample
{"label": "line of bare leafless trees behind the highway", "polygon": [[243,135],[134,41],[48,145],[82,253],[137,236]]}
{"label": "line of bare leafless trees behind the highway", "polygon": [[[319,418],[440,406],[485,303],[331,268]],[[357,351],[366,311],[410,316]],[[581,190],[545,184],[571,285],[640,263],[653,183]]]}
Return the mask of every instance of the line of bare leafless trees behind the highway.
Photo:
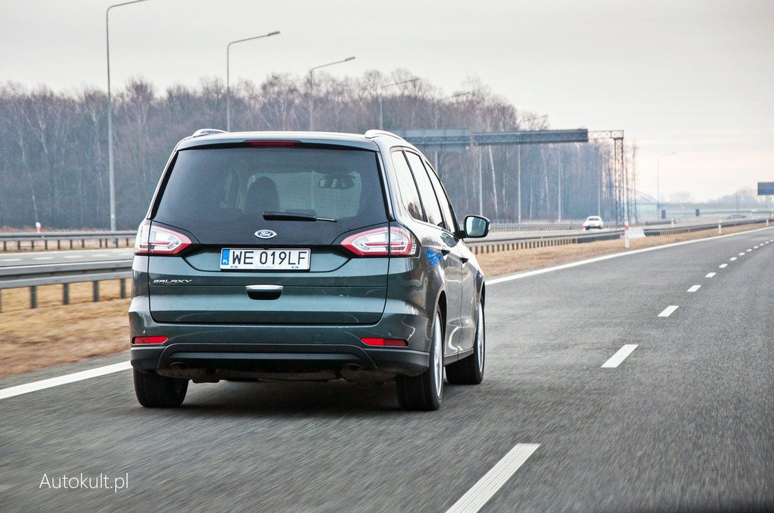
{"label": "line of bare leafless trees behind the highway", "polygon": [[[316,130],[364,133],[390,128],[470,128],[471,132],[550,128],[546,117],[520,111],[480,80],[447,97],[426,80],[384,88],[413,75],[370,71],[334,78],[272,74],[261,84],[231,85],[231,130]],[[439,98],[447,97],[439,100]],[[109,226],[107,94],[95,87],[52,91],[0,85],[0,227]],[[160,92],[134,78],[113,94],[118,229],[132,229],[146,212],[173,145],[198,128],[224,128],[226,87],[216,78],[197,87]],[[313,120],[313,121],[312,121]],[[521,159],[522,221],[584,218],[613,212],[611,145],[488,146],[427,152],[457,214],[498,221],[517,218],[517,159]],[[629,159],[632,160],[632,159]],[[481,178],[479,179],[479,169]],[[479,180],[481,189],[479,190]]]}

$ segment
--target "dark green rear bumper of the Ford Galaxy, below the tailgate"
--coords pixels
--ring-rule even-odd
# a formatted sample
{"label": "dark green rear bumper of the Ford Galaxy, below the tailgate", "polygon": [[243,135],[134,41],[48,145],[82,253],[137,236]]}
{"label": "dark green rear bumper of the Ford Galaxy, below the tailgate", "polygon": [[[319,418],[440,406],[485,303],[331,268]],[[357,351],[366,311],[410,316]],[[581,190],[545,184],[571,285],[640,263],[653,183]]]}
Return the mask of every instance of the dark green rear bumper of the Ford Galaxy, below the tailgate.
{"label": "dark green rear bumper of the Ford Galaxy, below the tailgate", "polygon": [[[430,321],[419,312],[386,313],[369,325],[158,323],[147,296],[132,299],[130,337],[165,336],[159,345],[132,345],[132,367],[149,372],[174,368],[262,373],[310,373],[342,369],[403,375],[430,366]],[[389,337],[408,347],[371,347],[361,338]]]}

